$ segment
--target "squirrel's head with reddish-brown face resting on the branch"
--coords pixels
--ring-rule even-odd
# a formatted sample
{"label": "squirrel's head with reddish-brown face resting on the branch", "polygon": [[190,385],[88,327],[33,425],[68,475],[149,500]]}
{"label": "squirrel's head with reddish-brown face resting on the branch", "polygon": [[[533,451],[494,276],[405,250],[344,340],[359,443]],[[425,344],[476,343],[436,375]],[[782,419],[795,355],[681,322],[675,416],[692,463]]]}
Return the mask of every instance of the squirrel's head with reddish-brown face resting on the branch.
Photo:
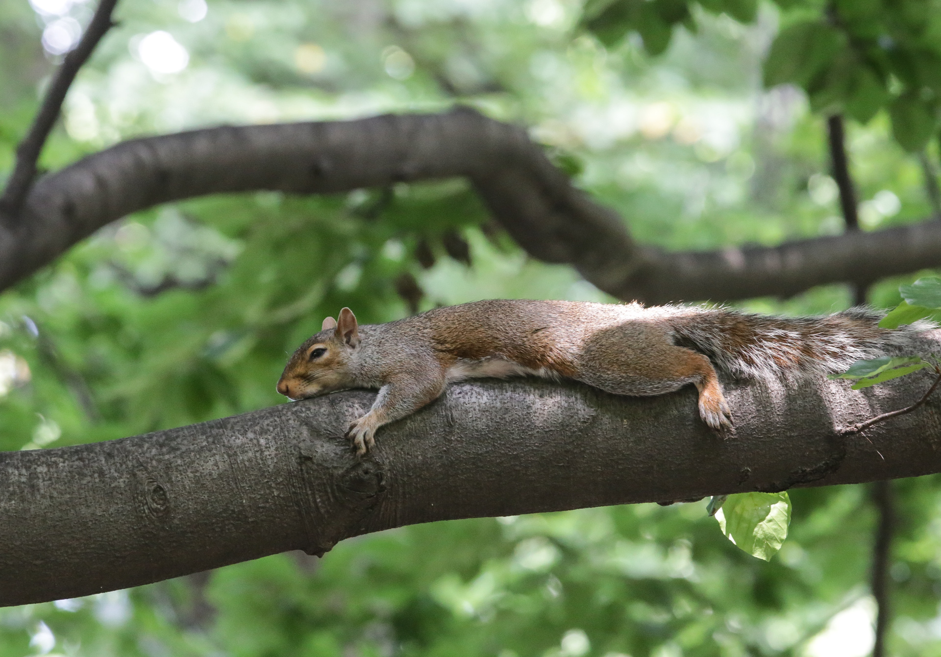
{"label": "squirrel's head with reddish-brown face resting on the branch", "polygon": [[344,308],[339,320],[327,317],[319,333],[295,351],[278,381],[288,399],[307,399],[349,388],[349,361],[359,347],[356,315]]}

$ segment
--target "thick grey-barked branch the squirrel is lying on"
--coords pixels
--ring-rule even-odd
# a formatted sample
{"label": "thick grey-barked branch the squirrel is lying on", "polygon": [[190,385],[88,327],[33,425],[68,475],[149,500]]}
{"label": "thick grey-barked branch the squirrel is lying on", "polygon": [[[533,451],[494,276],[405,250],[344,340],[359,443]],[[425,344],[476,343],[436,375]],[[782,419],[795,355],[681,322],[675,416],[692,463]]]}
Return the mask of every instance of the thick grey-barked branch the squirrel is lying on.
{"label": "thick grey-barked branch the squirrel is lying on", "polygon": [[[941,333],[931,347],[937,349]],[[264,554],[323,553],[417,522],[688,500],[941,472],[941,402],[837,435],[924,393],[930,376],[726,381],[736,433],[692,387],[651,398],[536,380],[452,386],[354,457],[374,393],[336,393],[202,425],[0,454],[0,604],[87,595]]]}

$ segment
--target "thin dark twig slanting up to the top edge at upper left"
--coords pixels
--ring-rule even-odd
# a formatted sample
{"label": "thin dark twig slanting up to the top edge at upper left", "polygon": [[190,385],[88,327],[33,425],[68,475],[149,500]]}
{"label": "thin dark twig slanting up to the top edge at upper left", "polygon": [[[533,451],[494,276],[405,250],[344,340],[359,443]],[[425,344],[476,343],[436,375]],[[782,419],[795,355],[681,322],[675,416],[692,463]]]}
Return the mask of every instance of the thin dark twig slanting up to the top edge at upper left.
{"label": "thin dark twig slanting up to the top edge at upper left", "polygon": [[0,197],[0,220],[4,223],[12,224],[20,215],[26,194],[36,177],[36,165],[40,159],[42,146],[56,124],[65,95],[72,86],[75,75],[91,56],[95,46],[114,25],[111,12],[117,4],[118,0],[101,0],[82,39],[62,60],[52,84],[49,85],[49,90],[46,91],[46,97],[42,100],[40,111],[33,120],[33,124],[29,126],[29,132],[17,146],[16,166],[9,176],[3,196]]}

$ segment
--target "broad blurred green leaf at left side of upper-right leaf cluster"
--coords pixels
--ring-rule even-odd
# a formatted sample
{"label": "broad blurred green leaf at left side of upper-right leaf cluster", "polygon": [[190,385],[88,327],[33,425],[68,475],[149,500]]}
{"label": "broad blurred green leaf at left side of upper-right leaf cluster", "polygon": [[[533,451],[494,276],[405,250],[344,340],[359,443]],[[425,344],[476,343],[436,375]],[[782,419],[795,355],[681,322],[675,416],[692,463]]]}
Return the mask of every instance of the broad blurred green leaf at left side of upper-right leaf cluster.
{"label": "broad blurred green leaf at left side of upper-right leaf cluster", "polygon": [[777,35],[765,59],[765,86],[793,82],[807,88],[845,42],[846,36],[827,24],[805,21],[790,25]]}

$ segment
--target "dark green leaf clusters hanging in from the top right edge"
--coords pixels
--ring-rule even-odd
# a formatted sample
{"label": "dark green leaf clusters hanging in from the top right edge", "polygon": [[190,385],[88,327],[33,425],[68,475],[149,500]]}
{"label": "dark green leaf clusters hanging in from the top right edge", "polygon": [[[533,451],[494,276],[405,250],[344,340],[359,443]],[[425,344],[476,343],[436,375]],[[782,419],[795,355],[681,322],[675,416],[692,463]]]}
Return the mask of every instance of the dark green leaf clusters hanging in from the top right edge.
{"label": "dark green leaf clusters hanging in from the top right edge", "polygon": [[[805,89],[814,111],[869,122],[887,108],[902,148],[920,151],[941,112],[941,6],[934,0],[775,0],[782,27],[764,62],[768,87]],[[583,24],[612,45],[638,34],[662,54],[678,25],[695,32],[696,11],[742,23],[758,19],[757,0],[595,0]]]}

